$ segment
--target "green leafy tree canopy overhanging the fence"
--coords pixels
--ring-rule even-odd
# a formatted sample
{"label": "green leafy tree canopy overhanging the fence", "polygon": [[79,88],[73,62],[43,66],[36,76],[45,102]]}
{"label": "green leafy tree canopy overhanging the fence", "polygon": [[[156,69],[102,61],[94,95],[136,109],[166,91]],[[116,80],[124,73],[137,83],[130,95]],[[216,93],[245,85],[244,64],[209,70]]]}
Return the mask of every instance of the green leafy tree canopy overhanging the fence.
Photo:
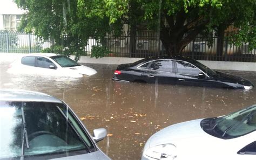
{"label": "green leafy tree canopy overhanging the fence", "polygon": [[[223,32],[227,26],[237,28],[232,34],[236,45],[249,42],[256,47],[255,0],[15,0],[26,16],[23,29],[35,30],[42,37],[60,43],[68,35],[69,50],[80,55],[87,39],[101,39],[123,24],[144,24],[159,32],[168,54],[179,54],[199,33]],[[220,30],[221,29],[221,30]],[[58,40],[57,40],[58,39]],[[76,51],[77,48],[79,51]]]}

